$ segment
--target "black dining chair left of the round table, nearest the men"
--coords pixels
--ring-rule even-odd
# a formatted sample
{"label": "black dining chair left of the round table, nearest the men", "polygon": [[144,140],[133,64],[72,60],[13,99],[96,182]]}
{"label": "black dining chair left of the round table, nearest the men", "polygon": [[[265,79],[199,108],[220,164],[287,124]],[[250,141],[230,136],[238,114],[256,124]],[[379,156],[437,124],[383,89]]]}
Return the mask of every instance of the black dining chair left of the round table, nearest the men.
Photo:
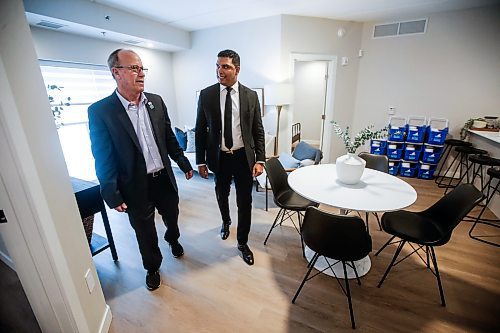
{"label": "black dining chair left of the round table, nearest the men", "polygon": [[[271,183],[271,189],[273,192],[274,203],[280,208],[278,215],[274,219],[274,222],[269,229],[266,239],[264,240],[264,245],[267,244],[267,240],[271,235],[271,231],[277,226],[281,226],[284,221],[290,220],[295,227],[295,230],[300,235],[300,242],[302,245],[302,255],[304,254],[304,241],[302,239],[302,215],[301,212],[305,212],[307,207],[315,206],[319,204],[317,202],[308,200],[299,194],[297,194],[290,185],[288,185],[288,173],[283,168],[281,162],[276,158],[272,157],[266,161],[266,172],[269,182]],[[307,167],[306,167],[307,168]],[[294,213],[297,213],[298,226],[295,225],[292,217]],[[279,220],[279,222],[278,222]]]}

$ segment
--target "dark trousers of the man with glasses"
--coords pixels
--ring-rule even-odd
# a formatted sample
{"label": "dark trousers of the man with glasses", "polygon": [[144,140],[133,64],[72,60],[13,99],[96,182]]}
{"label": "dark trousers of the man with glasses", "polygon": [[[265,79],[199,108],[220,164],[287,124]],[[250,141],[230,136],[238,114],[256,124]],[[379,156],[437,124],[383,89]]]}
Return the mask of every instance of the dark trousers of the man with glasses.
{"label": "dark trousers of the man with glasses", "polygon": [[148,200],[143,207],[127,209],[130,224],[135,230],[142,264],[148,271],[160,268],[162,255],[158,246],[155,226],[155,208],[167,227],[165,239],[168,242],[179,238],[179,196],[170,182],[166,171],[158,177],[148,175]]}

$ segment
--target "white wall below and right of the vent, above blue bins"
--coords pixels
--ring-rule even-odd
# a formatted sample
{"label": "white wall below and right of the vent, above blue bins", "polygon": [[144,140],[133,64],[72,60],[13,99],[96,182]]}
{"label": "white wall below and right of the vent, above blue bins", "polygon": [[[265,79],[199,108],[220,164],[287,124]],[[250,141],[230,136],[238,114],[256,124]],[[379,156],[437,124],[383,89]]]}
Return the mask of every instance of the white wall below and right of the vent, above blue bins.
{"label": "white wall below and right of the vent, above blue bins", "polygon": [[500,7],[429,16],[427,32],[372,39],[363,29],[355,127],[396,115],[444,117],[457,137],[470,117],[500,116]]}

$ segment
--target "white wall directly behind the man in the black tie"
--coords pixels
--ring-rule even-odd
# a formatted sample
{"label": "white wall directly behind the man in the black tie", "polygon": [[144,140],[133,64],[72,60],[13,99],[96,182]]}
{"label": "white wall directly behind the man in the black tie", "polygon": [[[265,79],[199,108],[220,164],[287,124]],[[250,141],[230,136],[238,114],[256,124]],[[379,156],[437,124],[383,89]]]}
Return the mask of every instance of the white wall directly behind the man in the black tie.
{"label": "white wall directly behind the man in the black tie", "polygon": [[[280,22],[280,17],[274,16],[192,33],[191,50],[173,55],[178,126],[194,125],[196,91],[217,83],[215,63],[219,51],[238,52],[241,58],[238,79],[249,88],[263,88],[278,79]],[[264,126],[276,128],[275,123]]]}

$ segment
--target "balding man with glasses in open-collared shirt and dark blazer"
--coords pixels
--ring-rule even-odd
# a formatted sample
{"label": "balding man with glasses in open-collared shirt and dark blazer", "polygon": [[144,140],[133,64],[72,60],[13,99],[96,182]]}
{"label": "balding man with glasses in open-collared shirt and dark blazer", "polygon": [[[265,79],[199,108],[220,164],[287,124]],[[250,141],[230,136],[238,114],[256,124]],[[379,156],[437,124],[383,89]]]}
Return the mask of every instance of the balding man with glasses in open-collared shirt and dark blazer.
{"label": "balding man with glasses in open-collared shirt and dark blazer", "polygon": [[178,241],[179,196],[169,156],[185,173],[193,169],[179,147],[160,96],[144,93],[147,69],[139,56],[118,49],[108,58],[117,89],[88,110],[92,153],[101,194],[110,208],[128,214],[134,228],[146,286],[160,286],[162,255],[155,227],[155,208],[167,230],[174,257],[184,254]]}

